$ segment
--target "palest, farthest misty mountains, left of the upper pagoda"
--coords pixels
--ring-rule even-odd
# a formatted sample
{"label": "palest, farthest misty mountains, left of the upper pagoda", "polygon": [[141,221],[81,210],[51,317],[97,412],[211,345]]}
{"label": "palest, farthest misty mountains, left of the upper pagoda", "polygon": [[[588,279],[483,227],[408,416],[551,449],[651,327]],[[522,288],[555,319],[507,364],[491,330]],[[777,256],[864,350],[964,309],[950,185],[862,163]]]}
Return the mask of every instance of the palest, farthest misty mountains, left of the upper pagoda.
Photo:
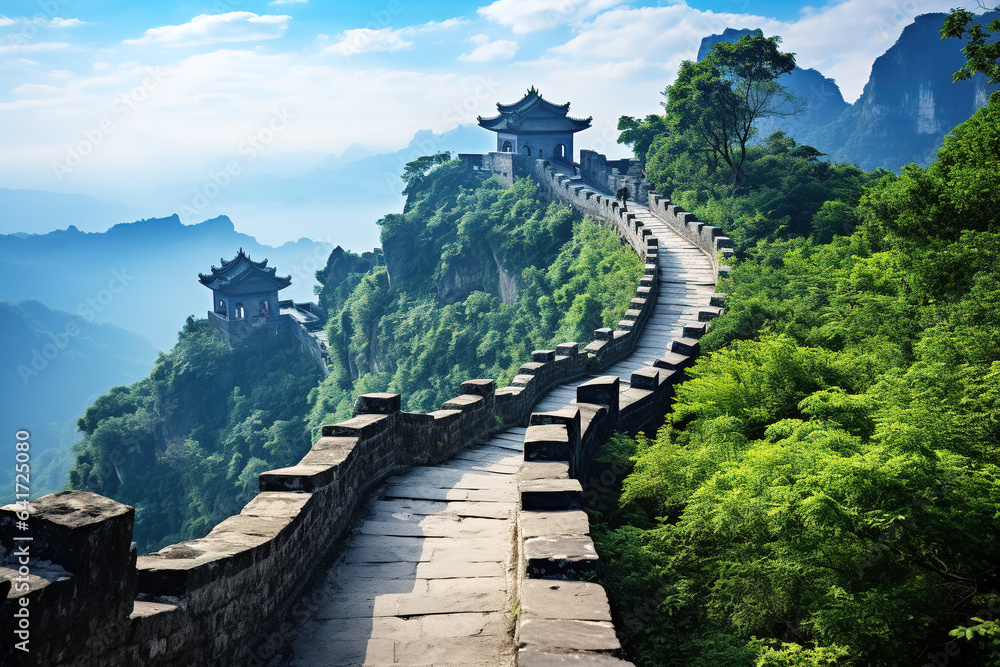
{"label": "palest, farthest misty mountains, left of the upper pagoda", "polygon": [[[313,159],[298,173],[287,161],[272,164],[262,158],[248,164],[226,187],[216,188],[211,175],[223,172],[228,160],[220,158],[193,169],[197,177],[187,183],[137,192],[123,203],[0,188],[0,234],[38,234],[67,225],[103,231],[116,223],[175,213],[182,223],[196,224],[226,215],[241,232],[262,243],[281,245],[308,237],[362,252],[379,244],[375,221],[402,211],[399,175],[407,162],[446,150],[482,153],[493,147],[494,140],[475,125],[443,134],[420,130],[401,150],[352,144],[340,155]],[[206,191],[213,196],[204,197]]]}

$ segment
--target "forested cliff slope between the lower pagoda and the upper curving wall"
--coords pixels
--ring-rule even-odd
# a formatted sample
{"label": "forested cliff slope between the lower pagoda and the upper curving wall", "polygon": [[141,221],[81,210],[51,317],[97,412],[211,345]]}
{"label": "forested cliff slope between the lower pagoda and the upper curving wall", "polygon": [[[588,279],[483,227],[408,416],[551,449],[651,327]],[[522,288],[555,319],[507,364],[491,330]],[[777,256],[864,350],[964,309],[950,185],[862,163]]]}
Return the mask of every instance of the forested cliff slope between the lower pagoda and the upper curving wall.
{"label": "forested cliff slope between the lower pagoda and the upper curving wall", "polygon": [[532,350],[589,342],[634,295],[641,262],[609,228],[543,203],[528,179],[424,166],[404,213],[379,221],[384,264],[342,254],[318,274],[333,369],[311,396],[314,427],[349,417],[360,393],[428,411],[463,380],[507,384]]}

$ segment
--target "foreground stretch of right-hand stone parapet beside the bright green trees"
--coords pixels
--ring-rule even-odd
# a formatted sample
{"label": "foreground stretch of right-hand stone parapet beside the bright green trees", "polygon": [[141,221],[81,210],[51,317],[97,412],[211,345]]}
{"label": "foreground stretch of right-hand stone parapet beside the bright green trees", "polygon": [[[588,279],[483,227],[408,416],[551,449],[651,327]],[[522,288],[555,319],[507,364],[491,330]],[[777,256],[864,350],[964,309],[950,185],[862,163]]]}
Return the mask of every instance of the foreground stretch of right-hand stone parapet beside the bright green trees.
{"label": "foreground stretch of right-hand stone parapet beside the bright green trees", "polygon": [[[672,362],[657,361],[667,363]],[[645,368],[632,374],[624,392],[616,376],[595,378],[577,387],[576,405],[531,416],[518,472],[519,667],[570,660],[631,664],[617,658],[621,645],[607,594],[592,581],[600,557],[583,511],[580,480],[587,478],[589,462],[611,433],[660,422],[682,373],[680,368]]]}

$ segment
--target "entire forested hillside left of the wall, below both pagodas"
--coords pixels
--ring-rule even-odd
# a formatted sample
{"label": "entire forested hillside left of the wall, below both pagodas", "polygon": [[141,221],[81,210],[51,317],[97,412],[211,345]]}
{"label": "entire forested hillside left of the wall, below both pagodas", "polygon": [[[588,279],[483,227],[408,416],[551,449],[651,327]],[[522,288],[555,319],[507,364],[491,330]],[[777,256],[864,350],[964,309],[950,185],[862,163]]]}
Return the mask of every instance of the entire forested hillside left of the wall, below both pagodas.
{"label": "entire forested hillside left of the wall, below both pagodas", "polygon": [[528,180],[480,183],[446,155],[413,169],[404,213],[380,221],[384,249],[337,248],[319,272],[325,380],[294,344],[234,351],[189,318],[149,377],[80,419],[70,485],[134,505],[140,552],[239,512],[260,472],[298,461],[358,394],[434,410],[463,380],[505,383],[532,350],[621,318],[642,265],[608,227],[542,202]]}

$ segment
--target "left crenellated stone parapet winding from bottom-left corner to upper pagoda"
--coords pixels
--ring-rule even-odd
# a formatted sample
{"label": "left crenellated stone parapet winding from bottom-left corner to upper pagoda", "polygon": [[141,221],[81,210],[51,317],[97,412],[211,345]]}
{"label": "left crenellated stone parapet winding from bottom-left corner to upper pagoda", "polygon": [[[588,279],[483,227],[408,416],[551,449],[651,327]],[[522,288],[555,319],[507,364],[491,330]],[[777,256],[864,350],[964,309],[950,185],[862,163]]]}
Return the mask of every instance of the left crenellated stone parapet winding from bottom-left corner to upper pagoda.
{"label": "left crenellated stone parapet winding from bottom-left corner to upper pagoda", "polygon": [[[616,330],[597,330],[583,351],[564,343],[533,353],[508,387],[467,381],[461,395],[428,414],[402,412],[397,394],[360,396],[354,417],[324,426],[299,463],[262,473],[260,493],[240,514],[203,538],[153,554],[137,557],[131,547],[132,508],[78,491],[32,501],[27,534],[35,541],[26,591],[10,589],[18,565],[16,545],[6,536],[14,534],[18,508],[0,508],[0,562],[6,565],[0,589],[9,591],[0,617],[12,622],[21,606],[31,613],[32,651],[17,657],[51,667],[263,664],[269,656],[261,638],[295,613],[374,487],[408,466],[444,460],[497,430],[528,422],[550,387],[629,354],[656,294],[656,240],[617,202],[581,196],[545,161],[525,165],[545,191],[611,225],[646,260],[646,275]],[[590,455],[611,429],[631,429],[662,410],[672,376],[654,375],[633,378],[633,393],[626,392],[614,410],[586,394],[590,407],[579,408],[580,445],[570,457],[575,473],[586,473]],[[0,629],[10,637],[14,628]],[[14,655],[5,642],[0,660],[7,664]]]}

